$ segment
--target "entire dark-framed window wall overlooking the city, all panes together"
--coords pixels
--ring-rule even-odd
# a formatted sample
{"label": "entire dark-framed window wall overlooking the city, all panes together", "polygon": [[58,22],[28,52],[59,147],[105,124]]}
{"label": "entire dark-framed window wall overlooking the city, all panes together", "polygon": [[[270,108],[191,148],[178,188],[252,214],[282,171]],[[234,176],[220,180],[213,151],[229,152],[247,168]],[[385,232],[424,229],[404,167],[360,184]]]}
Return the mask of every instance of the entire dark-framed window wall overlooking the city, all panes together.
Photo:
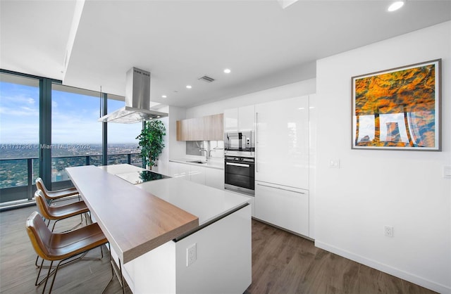
{"label": "entire dark-framed window wall overlooking the city, all panes together", "polygon": [[104,128],[100,96],[111,111],[124,105],[120,96],[0,70],[1,210],[32,203],[37,177],[51,189],[71,186],[66,167],[142,165],[136,140],[142,123]]}

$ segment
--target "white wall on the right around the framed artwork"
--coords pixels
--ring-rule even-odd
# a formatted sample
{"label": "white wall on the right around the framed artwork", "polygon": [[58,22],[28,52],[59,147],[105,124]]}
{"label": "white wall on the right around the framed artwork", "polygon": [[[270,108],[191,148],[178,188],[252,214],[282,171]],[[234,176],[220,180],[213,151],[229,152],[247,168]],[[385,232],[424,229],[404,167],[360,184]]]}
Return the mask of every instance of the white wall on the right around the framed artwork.
{"label": "white wall on the right around the framed artwork", "polygon": [[[442,59],[442,152],[351,149],[351,77]],[[451,293],[451,22],[317,61],[316,245]],[[340,168],[329,167],[332,159]],[[393,238],[383,226],[394,227]]]}

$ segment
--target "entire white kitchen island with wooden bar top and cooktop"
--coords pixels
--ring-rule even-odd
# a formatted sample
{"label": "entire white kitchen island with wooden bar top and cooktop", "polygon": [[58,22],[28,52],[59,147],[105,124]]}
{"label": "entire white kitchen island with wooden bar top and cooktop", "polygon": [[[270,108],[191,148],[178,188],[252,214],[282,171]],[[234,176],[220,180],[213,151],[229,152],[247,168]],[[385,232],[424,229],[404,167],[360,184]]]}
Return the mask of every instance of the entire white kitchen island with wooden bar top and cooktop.
{"label": "entire white kitchen island with wooden bar top and cooktop", "polygon": [[136,184],[128,174],[146,171],[131,165],[67,170],[133,293],[243,293],[250,285],[247,198],[184,179]]}

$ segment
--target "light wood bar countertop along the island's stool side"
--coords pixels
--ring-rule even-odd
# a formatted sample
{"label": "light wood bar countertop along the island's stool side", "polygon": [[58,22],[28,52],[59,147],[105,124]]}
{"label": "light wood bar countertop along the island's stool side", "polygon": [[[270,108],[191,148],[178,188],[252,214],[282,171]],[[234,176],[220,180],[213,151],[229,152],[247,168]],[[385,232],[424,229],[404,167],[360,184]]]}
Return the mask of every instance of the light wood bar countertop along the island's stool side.
{"label": "light wood bar countertop along the island's stool side", "polygon": [[195,215],[99,167],[66,170],[123,263],[199,226]]}

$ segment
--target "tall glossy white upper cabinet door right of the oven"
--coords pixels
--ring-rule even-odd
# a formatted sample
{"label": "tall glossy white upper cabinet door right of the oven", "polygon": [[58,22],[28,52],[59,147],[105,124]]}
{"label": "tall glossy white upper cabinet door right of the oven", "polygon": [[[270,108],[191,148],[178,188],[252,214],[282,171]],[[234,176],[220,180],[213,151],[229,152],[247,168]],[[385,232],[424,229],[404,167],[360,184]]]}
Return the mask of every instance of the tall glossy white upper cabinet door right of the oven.
{"label": "tall glossy white upper cabinet door right of the oven", "polygon": [[256,181],[309,189],[309,96],[261,103],[256,113]]}

